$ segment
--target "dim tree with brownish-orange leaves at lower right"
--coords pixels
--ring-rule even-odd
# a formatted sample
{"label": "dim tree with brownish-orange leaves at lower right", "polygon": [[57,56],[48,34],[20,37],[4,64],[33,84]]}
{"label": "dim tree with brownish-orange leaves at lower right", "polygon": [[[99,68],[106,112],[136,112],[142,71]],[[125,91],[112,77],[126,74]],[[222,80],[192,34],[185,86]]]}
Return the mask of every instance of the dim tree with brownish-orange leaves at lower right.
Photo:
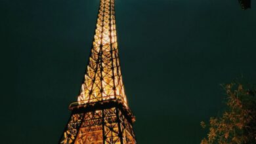
{"label": "dim tree with brownish-orange leaves at lower right", "polygon": [[211,117],[201,144],[256,143],[256,87],[234,81],[223,84],[226,109],[219,117]]}

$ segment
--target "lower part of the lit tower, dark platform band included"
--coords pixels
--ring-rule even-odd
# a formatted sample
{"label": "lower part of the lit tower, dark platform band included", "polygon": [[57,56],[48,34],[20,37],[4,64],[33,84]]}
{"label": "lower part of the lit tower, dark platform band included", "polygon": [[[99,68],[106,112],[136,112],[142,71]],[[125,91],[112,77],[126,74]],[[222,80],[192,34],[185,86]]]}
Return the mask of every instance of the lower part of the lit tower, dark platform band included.
{"label": "lower part of the lit tower, dark platform band included", "polygon": [[118,99],[70,105],[72,115],[61,144],[136,144],[135,117]]}

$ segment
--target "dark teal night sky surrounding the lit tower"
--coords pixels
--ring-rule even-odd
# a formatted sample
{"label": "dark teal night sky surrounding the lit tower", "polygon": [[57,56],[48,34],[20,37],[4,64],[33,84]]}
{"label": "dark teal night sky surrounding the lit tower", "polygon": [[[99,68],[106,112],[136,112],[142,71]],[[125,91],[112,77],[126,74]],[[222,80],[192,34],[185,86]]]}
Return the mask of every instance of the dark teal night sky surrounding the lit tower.
{"label": "dark teal night sky surrounding the lit tower", "polygon": [[[1,143],[57,143],[77,99],[99,0],[2,0]],[[221,83],[256,81],[256,3],[116,0],[125,92],[140,144],[200,143]]]}

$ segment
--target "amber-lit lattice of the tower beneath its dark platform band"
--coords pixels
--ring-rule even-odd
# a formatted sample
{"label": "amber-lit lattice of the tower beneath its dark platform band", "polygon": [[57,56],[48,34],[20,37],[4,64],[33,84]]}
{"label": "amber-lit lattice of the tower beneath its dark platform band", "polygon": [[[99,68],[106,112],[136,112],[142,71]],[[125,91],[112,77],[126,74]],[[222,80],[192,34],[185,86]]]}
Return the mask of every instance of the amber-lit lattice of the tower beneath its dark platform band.
{"label": "amber-lit lattice of the tower beneath its dark platform band", "polygon": [[[103,120],[104,126],[102,126]],[[77,130],[75,129],[77,127],[81,128]],[[119,109],[111,108],[72,115],[68,129],[64,132],[60,143],[136,144],[134,137],[133,126],[122,112]]]}

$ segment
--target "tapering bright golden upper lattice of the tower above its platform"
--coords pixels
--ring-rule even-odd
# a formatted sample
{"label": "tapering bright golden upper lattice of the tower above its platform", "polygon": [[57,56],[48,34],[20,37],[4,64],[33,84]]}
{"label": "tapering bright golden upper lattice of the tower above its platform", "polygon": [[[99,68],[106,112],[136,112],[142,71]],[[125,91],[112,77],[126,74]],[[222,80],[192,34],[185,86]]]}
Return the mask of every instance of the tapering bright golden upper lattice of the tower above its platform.
{"label": "tapering bright golden upper lattice of the tower above its platform", "polygon": [[91,55],[79,104],[120,99],[127,106],[119,64],[114,0],[100,0]]}

